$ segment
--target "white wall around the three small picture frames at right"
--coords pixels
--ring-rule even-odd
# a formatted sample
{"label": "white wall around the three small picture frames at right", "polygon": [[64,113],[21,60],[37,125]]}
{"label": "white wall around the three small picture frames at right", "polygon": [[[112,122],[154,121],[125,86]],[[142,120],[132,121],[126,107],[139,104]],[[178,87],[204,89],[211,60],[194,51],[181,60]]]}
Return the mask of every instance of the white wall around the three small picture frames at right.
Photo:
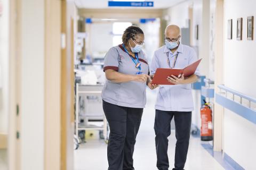
{"label": "white wall around the three small picture frames at right", "polygon": [[[224,83],[256,98],[256,41],[247,40],[247,16],[256,16],[256,1],[224,1]],[[243,40],[236,40],[236,19],[243,18]],[[233,39],[227,39],[227,20],[233,19]],[[254,23],[255,28],[255,23]],[[255,29],[254,29],[255,30]],[[255,34],[255,31],[254,31]],[[224,113],[224,151],[245,169],[255,169],[256,125],[228,110]]]}

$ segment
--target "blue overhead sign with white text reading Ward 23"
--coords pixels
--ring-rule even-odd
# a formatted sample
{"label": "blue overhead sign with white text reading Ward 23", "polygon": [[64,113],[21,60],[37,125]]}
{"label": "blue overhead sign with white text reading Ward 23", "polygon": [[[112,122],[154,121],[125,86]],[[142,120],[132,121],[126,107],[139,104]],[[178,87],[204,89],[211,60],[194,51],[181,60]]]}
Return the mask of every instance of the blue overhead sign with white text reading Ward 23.
{"label": "blue overhead sign with white text reading Ward 23", "polygon": [[109,1],[108,6],[130,6],[130,7],[154,7],[153,1],[133,2],[133,1]]}

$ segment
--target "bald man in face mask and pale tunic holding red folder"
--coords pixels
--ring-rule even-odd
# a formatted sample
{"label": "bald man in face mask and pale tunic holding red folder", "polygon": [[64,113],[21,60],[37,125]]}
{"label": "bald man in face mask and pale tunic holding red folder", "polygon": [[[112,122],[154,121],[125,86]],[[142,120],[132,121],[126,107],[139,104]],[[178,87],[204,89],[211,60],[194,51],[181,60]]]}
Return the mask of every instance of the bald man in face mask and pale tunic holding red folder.
{"label": "bald man in face mask and pale tunic holding red folder", "polygon": [[[183,69],[197,61],[195,50],[180,43],[180,28],[177,25],[168,25],[165,29],[165,45],[154,53],[150,72],[152,77],[157,68]],[[167,170],[169,159],[167,155],[168,137],[171,134],[171,120],[174,117],[175,136],[175,164],[173,169],[185,167],[191,126],[191,112],[194,110],[191,83],[197,81],[199,70],[184,79],[183,75],[167,77],[175,85],[159,86],[155,105],[155,134],[157,168]]]}

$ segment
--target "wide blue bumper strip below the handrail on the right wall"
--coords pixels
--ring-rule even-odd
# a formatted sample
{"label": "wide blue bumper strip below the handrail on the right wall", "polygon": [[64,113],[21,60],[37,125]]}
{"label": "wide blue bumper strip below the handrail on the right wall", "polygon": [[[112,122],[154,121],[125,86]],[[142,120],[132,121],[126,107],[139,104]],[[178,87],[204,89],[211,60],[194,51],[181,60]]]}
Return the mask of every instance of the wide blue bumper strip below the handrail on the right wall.
{"label": "wide blue bumper strip below the handrail on the right wall", "polygon": [[215,94],[215,101],[230,111],[244,117],[246,120],[256,124],[256,111],[251,108],[243,106],[236,101],[230,100],[220,94]]}

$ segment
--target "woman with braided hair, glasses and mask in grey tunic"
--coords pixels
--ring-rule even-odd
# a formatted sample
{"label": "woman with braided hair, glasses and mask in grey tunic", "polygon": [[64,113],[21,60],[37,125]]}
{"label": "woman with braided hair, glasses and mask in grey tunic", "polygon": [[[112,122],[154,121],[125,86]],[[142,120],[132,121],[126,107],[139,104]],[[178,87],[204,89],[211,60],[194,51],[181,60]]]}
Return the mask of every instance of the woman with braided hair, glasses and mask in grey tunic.
{"label": "woman with braided hair, glasses and mask in grey tunic", "polygon": [[150,82],[149,66],[141,48],[143,31],[128,27],[123,44],[109,49],[105,56],[106,83],[102,90],[103,111],[109,123],[108,169],[133,168],[133,150],[146,104],[146,85]]}

